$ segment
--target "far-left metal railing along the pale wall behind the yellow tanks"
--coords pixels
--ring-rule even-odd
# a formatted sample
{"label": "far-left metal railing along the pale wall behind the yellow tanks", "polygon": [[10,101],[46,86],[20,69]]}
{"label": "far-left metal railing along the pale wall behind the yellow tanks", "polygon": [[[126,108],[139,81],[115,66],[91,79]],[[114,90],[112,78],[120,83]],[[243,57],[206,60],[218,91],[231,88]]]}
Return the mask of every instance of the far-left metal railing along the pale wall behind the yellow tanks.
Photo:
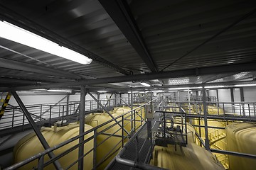
{"label": "far-left metal railing along the pale wall behind the yellow tanks", "polygon": [[[128,102],[128,98],[123,98],[124,101]],[[105,108],[110,109],[114,106],[126,105],[124,101],[120,101],[118,98],[101,99]],[[80,101],[70,101],[58,103],[48,103],[39,105],[28,105],[26,106],[29,113],[35,122],[50,123],[52,120],[63,120],[68,115],[76,115],[79,112]],[[96,111],[99,110],[96,101],[85,101],[85,111]],[[0,131],[7,128],[14,128],[18,126],[28,125],[28,120],[21,111],[19,106],[8,106],[4,112],[4,116],[0,120]]]}

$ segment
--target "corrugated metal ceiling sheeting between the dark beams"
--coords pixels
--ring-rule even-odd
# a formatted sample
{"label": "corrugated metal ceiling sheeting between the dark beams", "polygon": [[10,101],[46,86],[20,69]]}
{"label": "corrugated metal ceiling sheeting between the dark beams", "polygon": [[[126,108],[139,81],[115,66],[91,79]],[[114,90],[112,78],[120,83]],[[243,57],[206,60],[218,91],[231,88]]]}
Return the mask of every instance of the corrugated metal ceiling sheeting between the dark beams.
{"label": "corrugated metal ceiling sheeting between the dark beams", "polygon": [[[111,5],[121,2],[109,1],[109,3]],[[125,4],[126,1],[122,3]],[[21,65],[26,63],[42,67],[39,74],[29,69],[2,65],[0,81],[3,87],[151,72],[145,58],[138,54],[134,44],[126,38],[119,23],[113,21],[109,9],[105,10],[107,6],[100,4],[99,1],[4,0],[0,1],[0,4],[1,8],[5,9],[4,12],[0,12],[2,20],[18,22],[22,25],[21,20],[25,18],[31,21],[28,22],[31,24],[26,25],[31,30],[60,42],[60,45],[63,43],[60,38],[63,38],[66,42],[71,42],[70,46],[74,49],[79,47],[79,51],[91,52],[89,56],[98,57],[92,64],[82,65],[0,38],[0,59],[10,63],[15,61]],[[256,14],[253,13],[239,21],[242,16],[255,8],[254,1],[134,0],[128,1],[127,4],[129,6],[126,10],[131,11],[134,24],[139,28],[137,34],[142,35],[149,55],[160,71],[256,62]],[[130,19],[129,16],[127,17],[127,21],[124,22]],[[198,47],[235,21],[239,22]],[[191,52],[196,47],[198,49]],[[191,53],[186,55],[189,52]],[[186,56],[183,57],[184,55]],[[63,77],[46,74],[49,68],[62,72]],[[76,76],[68,77],[68,74]],[[159,81],[151,81],[151,84],[168,86],[242,80],[242,78],[228,78],[236,77],[239,72],[233,74],[159,79]],[[243,77],[254,80],[253,75],[255,72],[246,72]],[[123,85],[127,86],[127,84],[132,86],[134,83],[128,82]],[[107,87],[111,87],[111,84]],[[117,86],[112,84],[112,87]]]}

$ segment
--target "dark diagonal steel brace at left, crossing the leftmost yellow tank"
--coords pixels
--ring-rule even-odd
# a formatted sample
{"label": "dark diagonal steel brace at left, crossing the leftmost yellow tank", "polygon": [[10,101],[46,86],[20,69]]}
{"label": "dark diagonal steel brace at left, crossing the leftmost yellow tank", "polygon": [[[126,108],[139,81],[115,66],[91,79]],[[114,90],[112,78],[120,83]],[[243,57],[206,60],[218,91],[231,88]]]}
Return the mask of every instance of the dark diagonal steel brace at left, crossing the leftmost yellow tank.
{"label": "dark diagonal steel brace at left, crossing the leftmost yellow tank", "polygon": [[[48,143],[46,142],[46,139],[43,137],[41,131],[37,128],[36,123],[33,121],[33,118],[31,117],[31,114],[28,112],[28,110],[26,109],[26,107],[24,106],[23,102],[21,101],[21,98],[19,98],[18,94],[16,94],[16,91],[11,91],[11,94],[13,94],[15,100],[18,103],[18,106],[21,107],[21,110],[23,111],[23,113],[25,114],[26,118],[28,119],[28,122],[31,124],[33,130],[36,133],[36,136],[38,137],[38,140],[41,142],[41,144],[43,145],[44,149],[48,149],[50,148],[50,146],[48,145]],[[50,158],[54,158],[55,154],[53,154],[53,152],[49,152],[48,156]],[[55,169],[62,169],[60,166],[60,163],[56,160],[55,162],[53,162]]]}

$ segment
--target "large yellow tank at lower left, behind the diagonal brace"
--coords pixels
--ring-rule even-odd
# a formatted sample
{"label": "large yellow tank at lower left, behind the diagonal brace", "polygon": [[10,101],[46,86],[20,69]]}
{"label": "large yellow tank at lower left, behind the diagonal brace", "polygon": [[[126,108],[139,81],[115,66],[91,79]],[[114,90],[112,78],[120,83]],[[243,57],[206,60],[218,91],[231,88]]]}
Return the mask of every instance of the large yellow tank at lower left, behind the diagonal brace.
{"label": "large yellow tank at lower left, behind the diagonal brace", "polygon": [[[90,125],[85,125],[85,131],[90,130],[92,127]],[[71,123],[69,125],[63,126],[63,127],[52,127],[52,128],[41,128],[41,132],[43,137],[45,137],[46,141],[48,142],[48,145],[50,147],[53,147],[55,145],[60,144],[61,142],[64,142],[66,140],[69,140],[72,137],[75,137],[79,135],[79,124],[78,123]],[[90,132],[89,134],[85,135],[85,139],[93,136],[93,132]],[[60,154],[61,152],[64,152],[65,150],[69,149],[70,147],[73,147],[74,145],[78,144],[78,140],[75,140],[73,142],[70,142],[68,145],[65,145],[63,147],[60,147],[59,149],[56,149],[53,153],[55,155]],[[85,153],[93,148],[93,140],[90,140],[89,142],[85,143]],[[38,154],[40,152],[43,152],[45,149],[43,149],[43,146],[41,145],[41,142],[38,140],[38,137],[34,132],[31,134],[26,135],[21,140],[18,141],[16,146],[14,147],[14,163],[21,162],[24,159],[27,159],[35,154]],[[46,162],[49,159],[48,155],[45,156],[44,162]],[[70,164],[75,162],[75,160],[78,159],[78,149],[73,150],[72,152],[66,154],[65,156],[58,159],[58,162],[60,162],[61,166],[65,169]],[[84,162],[84,169],[92,169],[92,160],[93,160],[93,153],[87,154],[84,158],[86,161]],[[38,165],[38,160],[26,164],[25,166],[22,166],[21,170],[27,170],[27,169],[33,169],[33,167],[36,167]],[[53,164],[50,164],[46,166],[44,169],[55,169]],[[78,163],[72,166],[70,169],[78,169]]]}

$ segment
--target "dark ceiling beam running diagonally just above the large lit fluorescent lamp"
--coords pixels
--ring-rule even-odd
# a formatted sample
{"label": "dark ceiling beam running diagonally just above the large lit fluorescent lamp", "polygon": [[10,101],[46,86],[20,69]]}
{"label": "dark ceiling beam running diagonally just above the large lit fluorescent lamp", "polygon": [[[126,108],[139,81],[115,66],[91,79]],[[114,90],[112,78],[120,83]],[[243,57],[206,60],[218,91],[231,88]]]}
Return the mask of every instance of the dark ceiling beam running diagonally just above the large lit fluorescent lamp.
{"label": "dark ceiling beam running diagonally just above the large lit fluorescent lamp", "polygon": [[130,72],[127,72],[125,69],[118,67],[116,64],[113,64],[112,62],[109,62],[103,59],[102,57],[95,55],[94,53],[86,50],[85,48],[80,47],[80,45],[76,45],[74,42],[61,37],[60,35],[54,33],[53,31],[48,30],[47,28],[44,28],[41,25],[38,25],[38,23],[35,23],[29,20],[28,18],[23,17],[20,13],[16,13],[15,11],[12,11],[11,9],[6,8],[1,4],[0,4],[0,20],[7,21],[23,29],[31,31],[32,33],[40,35],[43,38],[51,40],[61,46],[68,47],[70,50],[74,50],[76,52],[79,52],[82,55],[90,57],[93,61],[99,64],[102,64],[105,67],[114,69],[119,73],[122,73],[124,75],[131,74]]}

